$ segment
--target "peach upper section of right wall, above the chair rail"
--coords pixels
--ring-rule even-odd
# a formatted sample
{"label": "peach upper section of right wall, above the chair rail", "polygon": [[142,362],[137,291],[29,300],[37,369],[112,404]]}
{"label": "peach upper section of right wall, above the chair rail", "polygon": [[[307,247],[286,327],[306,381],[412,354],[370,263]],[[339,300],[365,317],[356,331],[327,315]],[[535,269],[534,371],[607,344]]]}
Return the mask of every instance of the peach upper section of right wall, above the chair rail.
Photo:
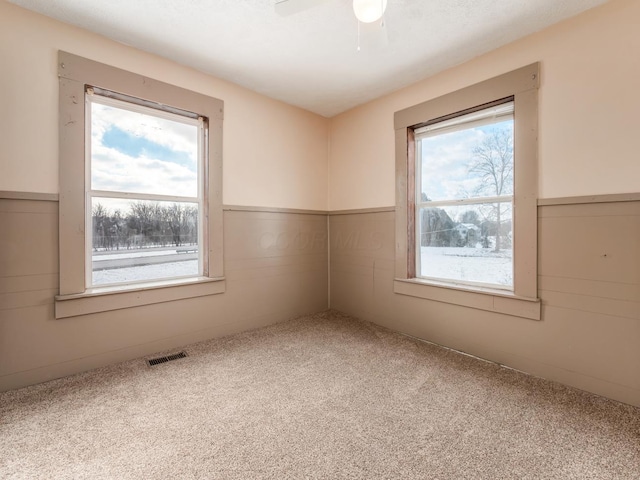
{"label": "peach upper section of right wall, above the chair rail", "polygon": [[329,209],[394,205],[395,111],[536,61],[539,197],[639,192],[638,19],[615,0],[333,118]]}

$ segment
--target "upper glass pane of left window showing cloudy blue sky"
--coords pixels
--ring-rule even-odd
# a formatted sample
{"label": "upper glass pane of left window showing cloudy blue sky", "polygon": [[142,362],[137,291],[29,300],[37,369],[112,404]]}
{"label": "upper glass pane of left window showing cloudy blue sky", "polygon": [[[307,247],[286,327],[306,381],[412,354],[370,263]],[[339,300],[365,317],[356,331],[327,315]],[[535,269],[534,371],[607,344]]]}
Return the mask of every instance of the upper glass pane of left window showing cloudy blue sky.
{"label": "upper glass pane of left window showing cloudy blue sky", "polygon": [[91,189],[197,197],[198,130],[91,102]]}

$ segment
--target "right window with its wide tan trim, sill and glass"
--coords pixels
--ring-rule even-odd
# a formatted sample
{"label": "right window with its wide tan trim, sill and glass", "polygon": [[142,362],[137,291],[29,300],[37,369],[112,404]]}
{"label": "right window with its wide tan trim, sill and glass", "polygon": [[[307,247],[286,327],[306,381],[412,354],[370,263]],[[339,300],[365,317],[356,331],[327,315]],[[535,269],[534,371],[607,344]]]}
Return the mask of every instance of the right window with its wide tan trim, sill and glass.
{"label": "right window with its wide tan trim, sill and glass", "polygon": [[394,291],[540,318],[538,64],[396,112]]}

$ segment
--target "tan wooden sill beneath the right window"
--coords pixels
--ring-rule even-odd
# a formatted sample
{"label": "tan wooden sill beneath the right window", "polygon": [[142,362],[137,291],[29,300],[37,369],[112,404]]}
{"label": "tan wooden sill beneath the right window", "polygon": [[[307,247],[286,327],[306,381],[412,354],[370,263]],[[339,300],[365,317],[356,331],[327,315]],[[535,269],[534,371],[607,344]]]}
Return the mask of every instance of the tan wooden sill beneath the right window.
{"label": "tan wooden sill beneath the right window", "polygon": [[541,318],[540,299],[521,297],[503,290],[461,287],[415,278],[396,278],[393,282],[393,291],[400,295],[435,300],[531,320],[540,320]]}

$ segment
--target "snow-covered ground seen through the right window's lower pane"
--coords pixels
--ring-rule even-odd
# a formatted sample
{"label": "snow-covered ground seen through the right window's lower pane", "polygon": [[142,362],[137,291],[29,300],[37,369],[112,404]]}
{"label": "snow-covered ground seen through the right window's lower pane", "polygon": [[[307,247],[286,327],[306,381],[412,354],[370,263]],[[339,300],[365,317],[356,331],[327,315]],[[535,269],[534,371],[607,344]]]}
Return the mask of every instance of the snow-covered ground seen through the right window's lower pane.
{"label": "snow-covered ground seen through the right window's lower pane", "polygon": [[513,284],[511,250],[491,248],[421,247],[422,277],[465,282]]}

